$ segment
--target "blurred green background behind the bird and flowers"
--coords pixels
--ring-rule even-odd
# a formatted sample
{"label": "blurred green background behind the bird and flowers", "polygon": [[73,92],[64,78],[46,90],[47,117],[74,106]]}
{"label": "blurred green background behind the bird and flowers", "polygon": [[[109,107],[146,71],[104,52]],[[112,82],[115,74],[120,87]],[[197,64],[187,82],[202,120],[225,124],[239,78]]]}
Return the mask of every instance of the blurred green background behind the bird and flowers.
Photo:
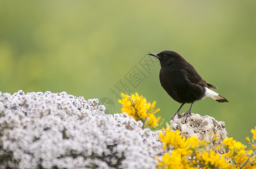
{"label": "blurred green background behind the bird and flowers", "polygon": [[[224,121],[245,143],[256,126],[255,9],[252,0],[0,1],[0,90],[107,97],[121,113],[111,89],[122,82],[169,122],[180,104],[161,87],[160,66],[147,72],[139,61],[173,50],[230,101],[207,98],[193,112]],[[146,76],[136,87],[125,78],[134,66]]]}

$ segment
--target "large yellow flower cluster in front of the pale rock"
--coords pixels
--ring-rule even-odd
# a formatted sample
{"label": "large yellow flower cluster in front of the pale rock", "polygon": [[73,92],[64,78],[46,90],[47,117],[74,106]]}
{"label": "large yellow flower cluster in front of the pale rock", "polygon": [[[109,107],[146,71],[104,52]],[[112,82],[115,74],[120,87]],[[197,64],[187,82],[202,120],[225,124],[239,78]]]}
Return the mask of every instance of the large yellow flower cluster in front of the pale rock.
{"label": "large yellow flower cluster in front of the pale rock", "polygon": [[[165,130],[165,129],[164,129]],[[245,150],[246,146],[227,137],[219,147],[215,148],[212,141],[198,140],[197,137],[185,138],[180,131],[172,131],[168,126],[165,134],[160,133],[160,141],[167,153],[159,160],[158,168],[256,168],[255,140],[256,127],[251,130],[253,138],[246,140],[254,150]],[[222,155],[216,153],[220,146],[229,152]],[[171,150],[172,153],[169,153]],[[227,158],[228,157],[228,158]],[[225,160],[226,159],[226,160]],[[232,161],[232,163],[231,163]]]}

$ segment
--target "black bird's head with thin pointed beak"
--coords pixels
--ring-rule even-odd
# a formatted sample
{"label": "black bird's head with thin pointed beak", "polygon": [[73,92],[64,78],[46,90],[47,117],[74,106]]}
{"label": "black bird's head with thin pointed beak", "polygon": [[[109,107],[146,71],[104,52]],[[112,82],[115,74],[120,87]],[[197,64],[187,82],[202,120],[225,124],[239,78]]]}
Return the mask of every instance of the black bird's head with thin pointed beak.
{"label": "black bird's head with thin pointed beak", "polygon": [[159,54],[148,54],[157,57],[159,59],[161,67],[169,66],[173,61],[182,60],[183,57],[174,51],[162,51]]}

